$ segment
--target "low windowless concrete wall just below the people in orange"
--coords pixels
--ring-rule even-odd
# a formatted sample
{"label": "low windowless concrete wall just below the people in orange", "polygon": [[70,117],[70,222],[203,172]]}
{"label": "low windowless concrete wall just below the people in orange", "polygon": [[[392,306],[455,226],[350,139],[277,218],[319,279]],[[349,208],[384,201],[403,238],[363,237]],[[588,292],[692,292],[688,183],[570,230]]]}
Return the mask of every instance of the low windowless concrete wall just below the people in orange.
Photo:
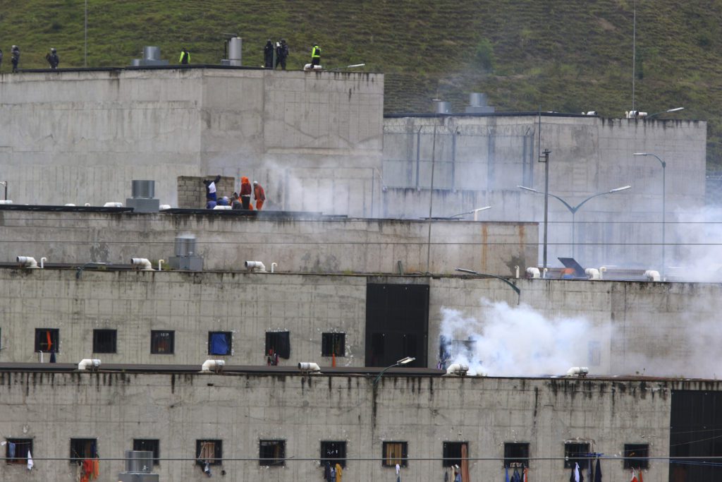
{"label": "low windowless concrete wall just below the people in orange", "polygon": [[536,262],[533,223],[435,220],[430,228],[422,220],[263,214],[0,210],[0,261],[14,262],[17,256],[72,264],[127,264],[131,257],[167,260],[175,252],[176,236],[194,234],[206,270],[245,270],[243,263],[254,260],[269,270],[277,262],[282,272],[398,273],[400,260],[407,273],[465,267],[510,276],[516,265],[523,272]]}

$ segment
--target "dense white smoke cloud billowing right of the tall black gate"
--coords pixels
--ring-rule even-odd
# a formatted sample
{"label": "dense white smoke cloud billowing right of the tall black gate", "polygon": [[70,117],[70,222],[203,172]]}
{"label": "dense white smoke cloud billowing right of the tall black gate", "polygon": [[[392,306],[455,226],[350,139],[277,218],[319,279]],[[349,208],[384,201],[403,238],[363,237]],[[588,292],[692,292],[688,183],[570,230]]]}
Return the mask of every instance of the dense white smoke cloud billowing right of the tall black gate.
{"label": "dense white smoke cloud billowing right of the tall black gate", "polygon": [[482,299],[483,320],[443,308],[440,335],[450,358],[490,376],[565,374],[588,364],[591,340],[609,340],[608,327],[584,318],[546,319],[526,304]]}

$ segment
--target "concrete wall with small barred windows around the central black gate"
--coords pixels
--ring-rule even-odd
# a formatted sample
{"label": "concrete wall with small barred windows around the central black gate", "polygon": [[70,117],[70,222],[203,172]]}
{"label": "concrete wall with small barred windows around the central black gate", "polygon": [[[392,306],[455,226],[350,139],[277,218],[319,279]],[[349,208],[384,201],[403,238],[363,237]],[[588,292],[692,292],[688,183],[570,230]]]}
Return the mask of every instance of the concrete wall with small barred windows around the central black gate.
{"label": "concrete wall with small barred windows around the central black gate", "polygon": [[[103,353],[103,361],[200,364],[207,358],[208,332],[230,331],[234,352],[228,363],[259,365],[266,361],[265,332],[288,330],[291,358],[282,365],[330,366],[331,359],[321,357],[321,333],[344,332],[347,356],[339,366],[364,366],[367,283],[430,285],[430,367],[439,361],[444,309],[453,309],[466,320],[454,340],[488,337],[492,345],[523,353],[549,345],[552,353],[565,355],[552,357],[551,366],[520,363],[516,371],[492,374],[564,374],[570,366],[612,375],[718,373],[709,352],[722,343],[716,284],[514,280],[521,289],[517,305],[516,293],[495,279],[128,271],[84,271],[77,277],[76,270],[49,269],[0,270],[0,361],[37,361],[35,329],[57,328],[58,361],[88,358],[92,330],[115,329],[118,353]],[[484,332],[499,324],[499,316],[482,300],[510,306],[512,314],[501,319],[506,337]],[[548,325],[544,330],[539,318]],[[560,320],[582,332],[557,347],[564,340]],[[174,355],[150,354],[151,330],[175,330]],[[588,358],[589,342],[599,343],[596,363]],[[494,349],[479,355],[482,370]]]}

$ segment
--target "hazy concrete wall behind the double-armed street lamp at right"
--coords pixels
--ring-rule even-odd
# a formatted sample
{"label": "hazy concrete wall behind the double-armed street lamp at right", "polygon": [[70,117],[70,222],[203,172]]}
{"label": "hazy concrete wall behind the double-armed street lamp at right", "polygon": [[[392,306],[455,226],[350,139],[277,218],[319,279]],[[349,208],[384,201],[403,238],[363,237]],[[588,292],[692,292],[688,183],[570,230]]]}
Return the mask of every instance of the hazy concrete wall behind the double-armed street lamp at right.
{"label": "hazy concrete wall behind the double-armed street lamp at right", "polygon": [[[684,220],[705,203],[706,125],[559,115],[542,115],[541,127],[538,116],[389,117],[384,119],[383,215],[428,215],[433,164],[433,215],[491,205],[479,213],[481,219],[543,220],[544,198],[516,187],[544,191],[544,163],[537,162],[541,132],[541,149],[552,151],[549,192],[572,207],[593,194],[632,186],[593,199],[575,218],[550,198],[550,264],[560,266],[557,257],[575,257],[585,267],[661,270],[661,164],[632,154],[652,152],[666,161],[667,220],[677,215]],[[681,263],[674,244],[688,230],[675,228],[666,227],[667,266]]]}

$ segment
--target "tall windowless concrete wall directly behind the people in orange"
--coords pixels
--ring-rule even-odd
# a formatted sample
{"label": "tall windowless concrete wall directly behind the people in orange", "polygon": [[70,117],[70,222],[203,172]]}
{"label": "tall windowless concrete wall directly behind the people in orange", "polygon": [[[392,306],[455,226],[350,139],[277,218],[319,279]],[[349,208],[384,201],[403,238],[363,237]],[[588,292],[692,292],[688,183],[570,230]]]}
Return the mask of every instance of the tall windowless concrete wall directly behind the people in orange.
{"label": "tall windowless concrete wall directly behind the people in orange", "polygon": [[178,176],[217,173],[258,180],[287,210],[370,215],[380,194],[382,74],[23,72],[0,76],[0,106],[16,203],[123,202],[131,180],[153,179],[175,206]]}

